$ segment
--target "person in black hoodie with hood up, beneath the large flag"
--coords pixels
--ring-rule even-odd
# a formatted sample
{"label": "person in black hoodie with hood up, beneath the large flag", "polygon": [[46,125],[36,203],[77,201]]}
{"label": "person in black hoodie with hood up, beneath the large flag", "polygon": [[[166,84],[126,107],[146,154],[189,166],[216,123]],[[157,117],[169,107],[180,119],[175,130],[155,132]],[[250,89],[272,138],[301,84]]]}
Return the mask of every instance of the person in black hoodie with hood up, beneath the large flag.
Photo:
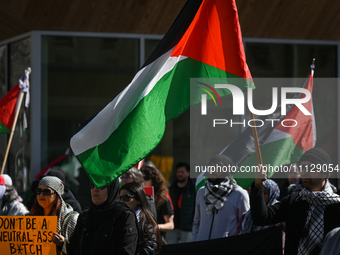
{"label": "person in black hoodie with hood up, beneath the large flag", "polygon": [[67,254],[136,254],[138,222],[134,211],[119,202],[119,182],[104,188],[91,183],[92,206],[81,213]]}

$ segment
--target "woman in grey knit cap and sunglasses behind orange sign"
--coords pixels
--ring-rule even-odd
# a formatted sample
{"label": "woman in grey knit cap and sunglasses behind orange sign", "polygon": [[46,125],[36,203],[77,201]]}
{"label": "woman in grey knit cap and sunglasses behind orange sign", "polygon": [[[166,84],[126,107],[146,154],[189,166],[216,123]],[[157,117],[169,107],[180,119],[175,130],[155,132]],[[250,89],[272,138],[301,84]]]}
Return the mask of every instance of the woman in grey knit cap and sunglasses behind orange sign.
{"label": "woman in grey knit cap and sunglasses behind orange sign", "polygon": [[52,241],[58,250],[66,251],[66,244],[76,227],[79,214],[64,202],[62,193],[63,182],[55,176],[45,176],[36,190],[37,197],[31,209],[31,216],[58,216],[57,232],[53,233]]}

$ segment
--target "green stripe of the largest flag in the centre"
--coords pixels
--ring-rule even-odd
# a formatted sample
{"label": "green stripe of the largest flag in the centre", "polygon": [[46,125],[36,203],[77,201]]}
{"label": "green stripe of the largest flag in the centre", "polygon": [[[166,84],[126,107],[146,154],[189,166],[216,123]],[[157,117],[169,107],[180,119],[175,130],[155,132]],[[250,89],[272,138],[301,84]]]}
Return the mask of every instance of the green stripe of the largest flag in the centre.
{"label": "green stripe of the largest flag in the centre", "polygon": [[[190,107],[190,78],[238,78],[220,69],[186,58],[165,74],[127,115],[108,139],[77,155],[91,181],[102,187],[148,155],[161,141],[165,123]],[[237,79],[242,90],[254,87]],[[198,102],[197,102],[198,103]]]}

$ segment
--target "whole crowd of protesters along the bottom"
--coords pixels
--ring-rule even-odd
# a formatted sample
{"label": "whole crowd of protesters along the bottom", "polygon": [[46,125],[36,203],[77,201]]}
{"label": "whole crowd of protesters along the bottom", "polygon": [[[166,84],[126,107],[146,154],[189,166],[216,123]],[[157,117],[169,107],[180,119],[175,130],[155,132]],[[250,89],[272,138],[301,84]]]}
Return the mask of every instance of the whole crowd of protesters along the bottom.
{"label": "whole crowd of protesters along the bottom", "polygon": [[[250,193],[230,173],[216,172],[207,175],[205,185],[196,192],[190,166],[183,162],[175,166],[168,189],[162,173],[144,164],[105,187],[89,181],[91,206],[85,210],[65,186],[60,168],[32,184],[34,194],[25,204],[11,177],[3,174],[0,215],[57,216],[52,241],[59,254],[158,254],[164,245],[270,227],[282,228],[284,254],[338,254],[340,197],[328,180],[329,173],[308,171],[311,164],[330,162],[321,148],[305,152],[291,165],[294,174],[289,174],[281,190],[260,165]],[[234,163],[216,155],[209,165]]]}

